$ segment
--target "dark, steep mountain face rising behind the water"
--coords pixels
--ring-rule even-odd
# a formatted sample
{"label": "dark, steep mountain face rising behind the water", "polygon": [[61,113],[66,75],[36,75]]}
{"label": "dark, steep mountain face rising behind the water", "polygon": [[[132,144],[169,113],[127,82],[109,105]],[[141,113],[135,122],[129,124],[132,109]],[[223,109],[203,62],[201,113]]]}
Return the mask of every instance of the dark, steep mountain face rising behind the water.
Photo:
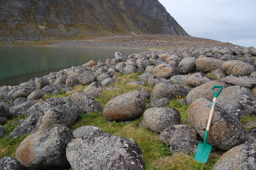
{"label": "dark, steep mountain face rising behind the water", "polygon": [[0,38],[188,36],[157,0],[2,0]]}

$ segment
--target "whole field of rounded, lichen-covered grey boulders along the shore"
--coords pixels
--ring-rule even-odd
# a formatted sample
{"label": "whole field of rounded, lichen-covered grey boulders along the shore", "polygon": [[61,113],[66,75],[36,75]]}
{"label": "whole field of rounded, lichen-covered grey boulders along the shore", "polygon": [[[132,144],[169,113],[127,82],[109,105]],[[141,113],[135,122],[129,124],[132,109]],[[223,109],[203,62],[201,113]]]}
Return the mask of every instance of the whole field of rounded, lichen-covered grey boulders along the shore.
{"label": "whole field of rounded, lichen-covered grey boulders along the shore", "polygon": [[[159,134],[170,153],[195,154],[204,136],[212,104],[212,87],[222,85],[212,118],[207,143],[213,150],[226,152],[214,169],[256,169],[255,129],[246,131],[240,120],[256,115],[255,48],[241,46],[194,46],[151,50],[115,58],[91,60],[17,86],[0,87],[0,124],[22,114],[8,139],[28,136],[15,158],[0,159],[1,169],[144,169],[139,145],[130,138],[105,133],[97,126],[82,126],[73,132],[71,124],[80,113],[103,111],[108,121],[133,121],[143,116],[141,126]],[[94,98],[115,83],[117,74],[137,73],[129,85],[138,89],[110,99],[104,107]],[[68,97],[42,99],[73,91]],[[151,86],[152,91],[143,89]],[[183,97],[189,105],[190,124],[181,124],[181,114],[168,105]],[[36,100],[42,99],[39,102]],[[150,100],[147,105],[146,100]],[[8,103],[7,103],[8,102]],[[11,106],[9,106],[11,105]],[[0,137],[5,128],[0,125]],[[231,155],[231,156],[230,156]],[[230,159],[232,157],[232,159]]]}

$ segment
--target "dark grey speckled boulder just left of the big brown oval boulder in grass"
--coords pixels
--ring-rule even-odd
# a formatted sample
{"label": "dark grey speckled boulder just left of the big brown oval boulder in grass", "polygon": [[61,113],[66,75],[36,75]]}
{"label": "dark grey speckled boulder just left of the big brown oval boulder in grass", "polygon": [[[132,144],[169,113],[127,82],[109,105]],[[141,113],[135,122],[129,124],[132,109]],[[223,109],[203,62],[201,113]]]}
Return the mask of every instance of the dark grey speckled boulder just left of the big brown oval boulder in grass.
{"label": "dark grey speckled boulder just left of the big brown oval boulder in grass", "polygon": [[92,97],[82,91],[77,91],[70,95],[71,102],[76,103],[81,108],[84,114],[90,114],[92,112],[100,112],[101,106],[98,101],[95,101]]}

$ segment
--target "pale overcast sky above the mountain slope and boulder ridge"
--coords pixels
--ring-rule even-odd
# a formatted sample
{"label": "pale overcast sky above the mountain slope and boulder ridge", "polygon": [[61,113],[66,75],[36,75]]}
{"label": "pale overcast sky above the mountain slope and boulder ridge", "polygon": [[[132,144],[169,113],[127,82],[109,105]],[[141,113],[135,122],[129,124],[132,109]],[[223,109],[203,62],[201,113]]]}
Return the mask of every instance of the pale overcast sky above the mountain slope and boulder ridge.
{"label": "pale overcast sky above the mountain slope and boulder ridge", "polygon": [[256,0],[158,0],[190,35],[256,47]]}

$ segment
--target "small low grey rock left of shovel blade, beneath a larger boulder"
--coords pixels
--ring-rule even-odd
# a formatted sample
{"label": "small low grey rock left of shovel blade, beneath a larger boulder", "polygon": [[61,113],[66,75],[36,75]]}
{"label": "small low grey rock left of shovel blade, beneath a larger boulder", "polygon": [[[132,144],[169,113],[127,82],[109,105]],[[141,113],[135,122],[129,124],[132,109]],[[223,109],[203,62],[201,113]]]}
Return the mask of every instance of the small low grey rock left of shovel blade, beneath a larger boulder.
{"label": "small low grey rock left of shovel blade, beneath a larger boulder", "polygon": [[179,140],[170,145],[170,154],[173,153],[187,153],[188,155],[195,155],[197,153],[198,140]]}

